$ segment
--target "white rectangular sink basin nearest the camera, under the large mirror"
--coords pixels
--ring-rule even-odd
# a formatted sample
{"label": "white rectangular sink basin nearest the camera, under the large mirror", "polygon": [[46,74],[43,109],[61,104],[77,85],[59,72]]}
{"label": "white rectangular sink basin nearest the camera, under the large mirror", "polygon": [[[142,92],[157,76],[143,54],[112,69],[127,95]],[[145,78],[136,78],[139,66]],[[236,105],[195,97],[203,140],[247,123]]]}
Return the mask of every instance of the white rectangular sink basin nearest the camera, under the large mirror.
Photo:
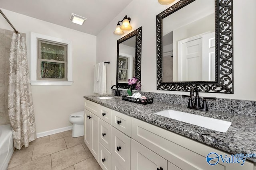
{"label": "white rectangular sink basin nearest the camera, under the large mirror", "polygon": [[164,110],[154,114],[168,117],[170,119],[175,119],[178,121],[190,123],[192,125],[205,127],[207,129],[212,129],[214,131],[219,131],[219,132],[228,131],[228,128],[231,125],[231,122],[229,121],[214,119],[210,117],[204,117],[200,115],[194,115],[194,114],[185,113],[182,111]]}

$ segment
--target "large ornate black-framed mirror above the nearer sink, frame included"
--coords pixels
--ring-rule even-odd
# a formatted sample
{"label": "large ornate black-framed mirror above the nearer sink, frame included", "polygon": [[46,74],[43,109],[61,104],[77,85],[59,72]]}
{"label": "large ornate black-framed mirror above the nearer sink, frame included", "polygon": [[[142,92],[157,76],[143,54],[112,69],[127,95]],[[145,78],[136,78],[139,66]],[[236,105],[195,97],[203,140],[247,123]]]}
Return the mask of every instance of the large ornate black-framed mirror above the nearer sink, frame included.
{"label": "large ornate black-framed mirror above the nearer sink, frame included", "polygon": [[234,93],[232,0],[180,0],[156,16],[157,90]]}

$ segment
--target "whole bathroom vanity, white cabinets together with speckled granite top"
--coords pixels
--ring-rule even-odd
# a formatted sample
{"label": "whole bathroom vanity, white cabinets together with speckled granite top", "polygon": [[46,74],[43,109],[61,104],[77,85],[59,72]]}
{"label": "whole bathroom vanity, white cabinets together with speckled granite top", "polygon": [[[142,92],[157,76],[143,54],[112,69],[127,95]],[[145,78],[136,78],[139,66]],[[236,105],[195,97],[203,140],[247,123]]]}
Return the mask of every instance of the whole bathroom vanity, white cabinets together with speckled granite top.
{"label": "whole bathroom vanity, white cabinets together with speckled granite top", "polygon": [[[112,97],[84,96],[84,142],[102,169],[254,170],[256,158],[247,158],[242,166],[221,160],[211,166],[206,156],[211,152],[224,157],[255,153],[256,129],[241,124],[255,124],[255,117],[217,115],[164,102],[144,106]],[[154,114],[165,109],[231,121],[232,125],[227,132],[218,132]]]}

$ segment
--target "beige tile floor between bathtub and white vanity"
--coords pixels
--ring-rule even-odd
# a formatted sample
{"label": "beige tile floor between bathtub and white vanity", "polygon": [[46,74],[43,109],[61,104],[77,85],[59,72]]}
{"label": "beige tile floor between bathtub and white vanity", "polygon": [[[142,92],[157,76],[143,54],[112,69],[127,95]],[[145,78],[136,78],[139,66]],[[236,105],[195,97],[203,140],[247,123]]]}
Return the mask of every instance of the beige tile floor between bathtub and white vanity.
{"label": "beige tile floor between bathtub and white vanity", "polygon": [[102,170],[84,143],[72,131],[41,137],[29,147],[15,149],[8,170]]}

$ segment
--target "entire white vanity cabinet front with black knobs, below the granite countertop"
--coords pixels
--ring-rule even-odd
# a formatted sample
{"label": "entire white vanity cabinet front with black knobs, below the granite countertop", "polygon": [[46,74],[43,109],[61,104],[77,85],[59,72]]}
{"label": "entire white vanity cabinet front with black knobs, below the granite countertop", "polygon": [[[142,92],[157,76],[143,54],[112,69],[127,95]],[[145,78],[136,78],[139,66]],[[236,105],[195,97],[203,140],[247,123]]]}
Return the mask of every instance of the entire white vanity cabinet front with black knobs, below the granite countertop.
{"label": "entire white vanity cabinet front with black knobs, below the granite countertop", "polygon": [[254,170],[249,161],[211,166],[210,152],[230,154],[85,101],[84,142],[103,170]]}

